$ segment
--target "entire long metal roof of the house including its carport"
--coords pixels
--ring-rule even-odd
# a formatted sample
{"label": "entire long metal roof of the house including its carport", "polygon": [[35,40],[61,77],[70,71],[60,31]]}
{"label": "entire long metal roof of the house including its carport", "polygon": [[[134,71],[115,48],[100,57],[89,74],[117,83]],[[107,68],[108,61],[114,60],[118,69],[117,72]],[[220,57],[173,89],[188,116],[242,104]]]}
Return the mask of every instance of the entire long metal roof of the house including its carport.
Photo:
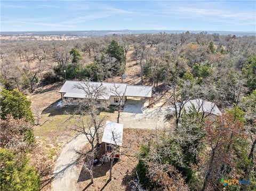
{"label": "entire long metal roof of the house including its carport", "polygon": [[[87,82],[67,80],[60,89],[60,93],[66,93],[64,97],[86,98],[95,89],[102,89],[102,95],[98,99],[109,99],[109,96],[152,97],[152,87],[131,86],[110,82]],[[84,94],[84,95],[82,95]]]}

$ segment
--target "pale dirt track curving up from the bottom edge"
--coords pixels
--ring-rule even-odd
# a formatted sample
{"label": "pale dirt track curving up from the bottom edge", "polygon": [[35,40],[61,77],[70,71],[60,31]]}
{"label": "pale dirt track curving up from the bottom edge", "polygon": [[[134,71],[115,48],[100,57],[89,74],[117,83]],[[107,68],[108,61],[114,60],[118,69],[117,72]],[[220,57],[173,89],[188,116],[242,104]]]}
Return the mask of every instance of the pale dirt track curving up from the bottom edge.
{"label": "pale dirt track curving up from the bottom edge", "polygon": [[79,154],[76,152],[80,151],[86,143],[86,136],[79,135],[63,148],[53,172],[53,191],[76,190],[76,182],[78,180],[79,170],[81,170],[76,165],[79,158]]}

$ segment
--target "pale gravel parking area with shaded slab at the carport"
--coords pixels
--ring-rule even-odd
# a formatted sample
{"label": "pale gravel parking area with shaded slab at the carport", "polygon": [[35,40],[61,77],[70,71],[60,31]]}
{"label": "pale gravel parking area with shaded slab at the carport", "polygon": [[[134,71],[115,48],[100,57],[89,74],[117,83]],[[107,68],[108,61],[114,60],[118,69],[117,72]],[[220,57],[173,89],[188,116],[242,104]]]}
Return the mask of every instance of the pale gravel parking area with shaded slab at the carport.
{"label": "pale gravel parking area with shaded slab at the carport", "polygon": [[124,110],[120,115],[120,123],[124,128],[155,129],[156,127],[169,127],[166,114],[172,112],[170,107],[158,103],[148,108],[145,98],[129,98],[126,100]]}

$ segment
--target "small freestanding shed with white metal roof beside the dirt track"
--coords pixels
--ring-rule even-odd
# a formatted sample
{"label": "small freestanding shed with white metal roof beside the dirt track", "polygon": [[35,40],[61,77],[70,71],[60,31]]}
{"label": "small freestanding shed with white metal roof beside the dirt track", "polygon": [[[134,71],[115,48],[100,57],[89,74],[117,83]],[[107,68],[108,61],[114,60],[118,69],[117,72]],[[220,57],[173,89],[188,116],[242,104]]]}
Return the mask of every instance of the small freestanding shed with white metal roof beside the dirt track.
{"label": "small freestanding shed with white metal roof beside the dirt track", "polygon": [[123,145],[123,130],[124,126],[120,123],[106,121],[106,126],[101,139],[102,143],[105,143],[105,153],[111,153],[113,151],[112,145],[117,146],[115,158],[119,158],[120,147]]}

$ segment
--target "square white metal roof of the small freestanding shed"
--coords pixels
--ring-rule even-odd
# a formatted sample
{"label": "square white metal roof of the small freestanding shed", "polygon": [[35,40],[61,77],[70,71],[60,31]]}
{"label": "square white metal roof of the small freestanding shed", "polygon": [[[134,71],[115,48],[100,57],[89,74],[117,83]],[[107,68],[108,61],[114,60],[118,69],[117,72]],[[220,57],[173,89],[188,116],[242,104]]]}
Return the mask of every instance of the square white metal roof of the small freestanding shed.
{"label": "square white metal roof of the small freestanding shed", "polygon": [[106,121],[106,126],[103,132],[101,142],[122,146],[123,130],[123,124]]}

